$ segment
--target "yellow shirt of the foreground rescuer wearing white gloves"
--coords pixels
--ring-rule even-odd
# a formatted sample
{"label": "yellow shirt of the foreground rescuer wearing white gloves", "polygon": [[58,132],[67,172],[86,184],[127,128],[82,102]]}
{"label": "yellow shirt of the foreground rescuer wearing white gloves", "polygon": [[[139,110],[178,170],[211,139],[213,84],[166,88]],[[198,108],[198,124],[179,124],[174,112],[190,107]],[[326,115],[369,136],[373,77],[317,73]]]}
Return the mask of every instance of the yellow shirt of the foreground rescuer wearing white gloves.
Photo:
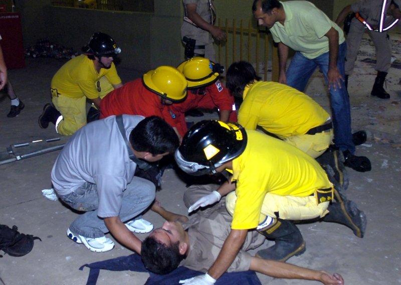
{"label": "yellow shirt of the foreground rescuer wearing white gloves", "polygon": [[320,165],[297,148],[256,130],[247,130],[245,151],[233,160],[237,202],[233,229],[252,229],[259,223],[268,192],[306,197],[332,184]]}

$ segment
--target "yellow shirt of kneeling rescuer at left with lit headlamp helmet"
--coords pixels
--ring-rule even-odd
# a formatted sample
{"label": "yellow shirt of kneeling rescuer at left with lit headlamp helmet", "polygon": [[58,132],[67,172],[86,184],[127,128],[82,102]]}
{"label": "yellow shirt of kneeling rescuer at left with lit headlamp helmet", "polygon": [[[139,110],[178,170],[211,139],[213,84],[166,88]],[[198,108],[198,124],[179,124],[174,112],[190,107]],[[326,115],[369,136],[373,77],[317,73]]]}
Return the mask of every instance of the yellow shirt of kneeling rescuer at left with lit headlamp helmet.
{"label": "yellow shirt of kneeling rescuer at left with lit headlamp helmet", "polygon": [[121,83],[114,63],[109,69],[101,68],[97,73],[93,60],[86,55],[80,55],[66,62],[53,76],[51,87],[57,92],[71,98],[89,99],[99,97],[96,82],[105,76],[107,80],[116,85]]}

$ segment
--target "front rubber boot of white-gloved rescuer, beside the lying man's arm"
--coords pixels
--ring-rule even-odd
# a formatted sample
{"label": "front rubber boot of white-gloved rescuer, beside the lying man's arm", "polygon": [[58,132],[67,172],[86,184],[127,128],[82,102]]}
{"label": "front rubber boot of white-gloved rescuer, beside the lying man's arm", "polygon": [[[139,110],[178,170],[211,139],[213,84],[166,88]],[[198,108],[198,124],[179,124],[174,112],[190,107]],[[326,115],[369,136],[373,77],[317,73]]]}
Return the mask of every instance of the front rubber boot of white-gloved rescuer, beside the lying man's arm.
{"label": "front rubber boot of white-gloved rescuer, beside the lying man's arm", "polygon": [[275,245],[257,252],[256,256],[263,259],[286,261],[291,256],[305,252],[305,242],[301,232],[289,221],[277,219],[276,223],[258,232],[276,242]]}

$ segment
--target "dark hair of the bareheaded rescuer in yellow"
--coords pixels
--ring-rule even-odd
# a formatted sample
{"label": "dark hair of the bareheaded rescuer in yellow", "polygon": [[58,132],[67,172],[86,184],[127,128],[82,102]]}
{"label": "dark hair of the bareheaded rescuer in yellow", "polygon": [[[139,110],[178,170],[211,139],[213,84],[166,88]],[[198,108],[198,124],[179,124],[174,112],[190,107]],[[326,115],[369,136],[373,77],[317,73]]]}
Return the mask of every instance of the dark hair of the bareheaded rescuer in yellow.
{"label": "dark hair of the bareheaded rescuer in yellow", "polygon": [[227,70],[227,89],[234,96],[242,97],[245,86],[259,80],[261,77],[256,74],[252,64],[247,61],[234,62]]}

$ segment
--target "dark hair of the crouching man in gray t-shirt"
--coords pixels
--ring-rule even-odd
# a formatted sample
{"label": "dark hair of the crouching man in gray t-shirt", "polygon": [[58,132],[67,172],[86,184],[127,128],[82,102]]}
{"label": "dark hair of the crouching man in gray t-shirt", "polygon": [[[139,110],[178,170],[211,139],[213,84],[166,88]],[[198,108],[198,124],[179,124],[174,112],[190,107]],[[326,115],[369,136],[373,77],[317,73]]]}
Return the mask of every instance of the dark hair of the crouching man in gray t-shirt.
{"label": "dark hair of the crouching man in gray t-shirt", "polygon": [[141,120],[131,131],[129,142],[135,151],[152,155],[173,154],[179,145],[173,128],[158,116]]}

